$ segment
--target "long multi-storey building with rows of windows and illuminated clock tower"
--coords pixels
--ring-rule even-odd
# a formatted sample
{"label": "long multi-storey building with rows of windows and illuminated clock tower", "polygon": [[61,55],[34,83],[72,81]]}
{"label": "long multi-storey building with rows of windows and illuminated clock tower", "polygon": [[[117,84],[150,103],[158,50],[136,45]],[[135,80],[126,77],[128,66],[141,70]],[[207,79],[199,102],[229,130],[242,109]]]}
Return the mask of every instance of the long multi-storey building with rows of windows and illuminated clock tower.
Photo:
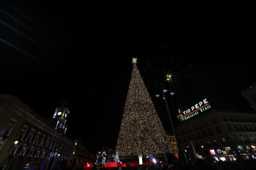
{"label": "long multi-storey building with rows of windows and illuminated clock tower", "polygon": [[59,169],[70,162],[75,143],[65,136],[68,114],[63,104],[47,120],[18,98],[0,94],[0,167]]}

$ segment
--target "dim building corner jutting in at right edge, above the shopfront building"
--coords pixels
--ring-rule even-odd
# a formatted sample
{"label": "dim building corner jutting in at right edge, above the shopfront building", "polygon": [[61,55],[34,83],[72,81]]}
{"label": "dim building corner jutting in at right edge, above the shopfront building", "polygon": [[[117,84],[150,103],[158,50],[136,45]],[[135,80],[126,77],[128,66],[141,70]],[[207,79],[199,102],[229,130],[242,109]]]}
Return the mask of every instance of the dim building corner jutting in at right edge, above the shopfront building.
{"label": "dim building corner jutting in at right edge, above the shopfront building", "polygon": [[251,107],[256,111],[256,83],[243,90],[242,96],[246,98]]}

